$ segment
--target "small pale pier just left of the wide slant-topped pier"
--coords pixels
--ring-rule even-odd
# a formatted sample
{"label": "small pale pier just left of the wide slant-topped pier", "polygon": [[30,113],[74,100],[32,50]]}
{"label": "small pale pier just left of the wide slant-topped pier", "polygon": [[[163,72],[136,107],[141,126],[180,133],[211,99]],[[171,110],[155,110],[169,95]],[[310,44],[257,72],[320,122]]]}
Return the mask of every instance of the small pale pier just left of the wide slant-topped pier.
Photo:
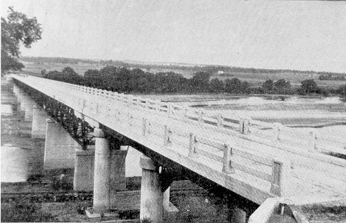
{"label": "small pale pier just left of the wide slant-topped pier", "polygon": [[39,106],[34,106],[32,114],[32,128],[31,137],[32,139],[44,139],[45,128],[47,128],[46,119],[48,118],[47,113]]}

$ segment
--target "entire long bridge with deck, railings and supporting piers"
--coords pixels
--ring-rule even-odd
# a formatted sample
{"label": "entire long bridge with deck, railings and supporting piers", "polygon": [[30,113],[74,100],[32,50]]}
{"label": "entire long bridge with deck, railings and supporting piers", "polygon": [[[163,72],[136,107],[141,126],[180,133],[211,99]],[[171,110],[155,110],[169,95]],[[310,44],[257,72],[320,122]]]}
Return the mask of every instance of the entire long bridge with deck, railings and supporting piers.
{"label": "entire long bridge with deck, railings and supporting piers", "polygon": [[[124,146],[143,153],[141,219],[153,222],[161,221],[169,186],[181,177],[261,205],[250,222],[279,204],[346,199],[346,138],[39,77],[12,78],[32,137],[45,138],[45,168],[74,167],[74,188],[94,191],[96,211],[116,206],[112,191],[125,184]],[[249,216],[238,212],[236,222],[245,222]]]}

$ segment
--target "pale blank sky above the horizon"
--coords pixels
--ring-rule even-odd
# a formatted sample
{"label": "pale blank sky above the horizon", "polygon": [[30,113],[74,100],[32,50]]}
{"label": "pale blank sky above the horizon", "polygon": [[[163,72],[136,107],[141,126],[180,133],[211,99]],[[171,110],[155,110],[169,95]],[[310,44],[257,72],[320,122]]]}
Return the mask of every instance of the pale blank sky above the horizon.
{"label": "pale blank sky above the horizon", "polygon": [[37,17],[23,56],[346,72],[346,1],[1,0]]}

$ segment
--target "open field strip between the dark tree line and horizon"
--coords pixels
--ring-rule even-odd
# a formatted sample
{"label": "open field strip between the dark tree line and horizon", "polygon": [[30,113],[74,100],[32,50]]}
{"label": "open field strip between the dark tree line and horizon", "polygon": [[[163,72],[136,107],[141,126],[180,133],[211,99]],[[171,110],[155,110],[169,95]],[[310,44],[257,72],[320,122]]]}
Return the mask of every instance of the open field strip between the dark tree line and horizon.
{"label": "open field strip between the dark tree line and horizon", "polygon": [[[96,69],[100,70],[104,66],[100,64],[59,64],[59,63],[41,63],[41,64],[34,64],[30,62],[23,62],[23,64],[26,66],[23,68],[24,72],[29,73],[41,73],[41,70],[58,70],[61,71],[63,68],[70,66],[74,69],[79,75],[83,75],[85,71],[90,69]],[[143,68],[145,72],[176,72],[183,77],[191,78],[194,75],[194,72],[192,70],[178,70],[178,69],[163,69],[163,68],[151,68],[150,70],[147,70]],[[318,80],[318,77],[316,75],[303,75],[303,74],[294,74],[294,73],[285,73],[285,72],[278,72],[275,74],[269,74],[269,73],[247,73],[247,72],[234,72],[234,73],[225,73],[222,75],[218,75],[218,73],[212,74],[211,78],[218,78],[225,80],[227,78],[238,78],[241,79],[241,81],[248,81],[252,86],[261,86],[264,81],[267,79],[272,79],[274,81],[277,81],[278,79],[285,79],[287,81],[290,81],[293,86],[299,86],[301,84],[301,81],[305,79],[314,79],[318,86],[321,87],[329,87],[329,88],[338,88],[339,86],[346,84],[346,81],[329,81],[329,80]]]}

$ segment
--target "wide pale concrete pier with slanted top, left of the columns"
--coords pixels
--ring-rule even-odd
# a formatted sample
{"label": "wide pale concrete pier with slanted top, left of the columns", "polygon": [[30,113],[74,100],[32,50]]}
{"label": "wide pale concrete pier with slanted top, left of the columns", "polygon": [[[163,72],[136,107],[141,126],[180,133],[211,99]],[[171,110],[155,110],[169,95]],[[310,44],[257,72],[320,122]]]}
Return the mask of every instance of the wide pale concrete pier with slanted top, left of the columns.
{"label": "wide pale concrete pier with slanted top, left of the columns", "polygon": [[45,169],[74,168],[74,150],[79,144],[59,124],[46,119],[45,132]]}

